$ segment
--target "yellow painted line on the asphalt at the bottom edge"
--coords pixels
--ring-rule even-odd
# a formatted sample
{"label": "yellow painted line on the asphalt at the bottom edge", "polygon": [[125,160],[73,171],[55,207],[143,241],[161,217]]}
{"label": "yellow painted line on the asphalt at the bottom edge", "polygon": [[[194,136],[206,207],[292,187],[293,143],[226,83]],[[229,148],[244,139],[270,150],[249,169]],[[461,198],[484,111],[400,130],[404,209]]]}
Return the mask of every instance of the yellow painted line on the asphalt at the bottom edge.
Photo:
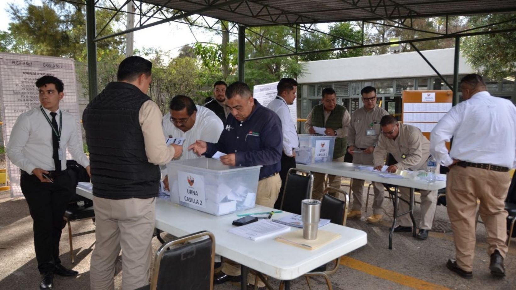
{"label": "yellow painted line on the asphalt at the bottom edge", "polygon": [[345,256],[341,258],[341,265],[418,290],[450,290],[449,288],[438,284],[433,284],[421,279],[400,274],[395,271],[373,266],[371,264],[367,264],[362,261]]}

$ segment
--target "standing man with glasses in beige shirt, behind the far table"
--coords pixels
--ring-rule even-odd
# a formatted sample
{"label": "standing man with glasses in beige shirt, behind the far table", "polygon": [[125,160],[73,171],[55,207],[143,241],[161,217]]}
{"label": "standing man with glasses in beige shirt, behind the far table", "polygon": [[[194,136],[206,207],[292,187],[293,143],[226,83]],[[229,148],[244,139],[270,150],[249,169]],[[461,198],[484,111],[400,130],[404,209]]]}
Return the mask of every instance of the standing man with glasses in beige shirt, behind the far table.
{"label": "standing man with glasses in beige shirt, behind the far table", "polygon": [[[354,111],[351,115],[348,130],[348,152],[353,156],[353,163],[373,165],[373,151],[380,134],[380,120],[389,113],[376,105],[376,89],[374,87],[365,87],[360,94],[364,107]],[[360,218],[362,216],[364,180],[353,179],[351,191],[353,206],[348,213],[348,218]],[[373,182],[373,191],[375,193],[373,215],[367,218],[367,223],[370,224],[376,224],[382,220],[383,184]]]}

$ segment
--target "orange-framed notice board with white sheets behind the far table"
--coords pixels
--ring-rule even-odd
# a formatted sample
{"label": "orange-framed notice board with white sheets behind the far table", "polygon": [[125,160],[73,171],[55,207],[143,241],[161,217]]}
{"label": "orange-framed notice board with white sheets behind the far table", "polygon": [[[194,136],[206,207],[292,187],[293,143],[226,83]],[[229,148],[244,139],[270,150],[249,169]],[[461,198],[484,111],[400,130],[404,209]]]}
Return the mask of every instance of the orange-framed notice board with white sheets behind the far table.
{"label": "orange-framed notice board with white sheets behind the far table", "polygon": [[[430,140],[430,132],[451,109],[452,100],[451,90],[403,91],[401,121],[420,128]],[[449,143],[446,143],[446,147],[449,149]]]}

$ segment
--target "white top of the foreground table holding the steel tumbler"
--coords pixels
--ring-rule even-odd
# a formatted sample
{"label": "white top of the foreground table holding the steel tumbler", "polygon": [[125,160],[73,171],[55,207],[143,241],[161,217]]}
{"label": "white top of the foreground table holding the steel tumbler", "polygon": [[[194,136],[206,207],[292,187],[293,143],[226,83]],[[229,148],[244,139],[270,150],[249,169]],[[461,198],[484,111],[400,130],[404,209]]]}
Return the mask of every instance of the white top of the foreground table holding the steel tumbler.
{"label": "white top of the foreground table holding the steel tumbler", "polygon": [[[92,198],[91,191],[77,187],[77,194]],[[256,206],[239,213],[267,212],[271,208]],[[278,213],[274,218],[281,218],[288,213]],[[245,237],[229,233],[234,226],[236,213],[214,216],[189,209],[169,200],[158,198],[156,202],[156,228],[174,236],[183,236],[198,231],[211,231],[215,235],[216,253],[265,275],[280,280],[292,280],[314,268],[330,262],[341,255],[367,244],[364,231],[328,224],[321,230],[341,234],[337,240],[315,250],[306,250],[277,242],[271,238],[252,241]],[[298,230],[293,228],[293,230]]]}

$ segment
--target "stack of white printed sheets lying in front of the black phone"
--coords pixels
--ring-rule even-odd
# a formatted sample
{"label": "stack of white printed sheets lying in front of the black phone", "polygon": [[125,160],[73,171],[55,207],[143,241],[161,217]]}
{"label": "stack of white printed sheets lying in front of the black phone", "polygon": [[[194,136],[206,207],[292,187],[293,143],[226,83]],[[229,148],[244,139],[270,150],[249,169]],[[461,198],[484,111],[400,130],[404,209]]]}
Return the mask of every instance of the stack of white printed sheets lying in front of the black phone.
{"label": "stack of white printed sheets lying in front of the black phone", "polygon": [[237,234],[249,238],[253,241],[263,240],[264,238],[276,236],[284,232],[288,232],[291,228],[278,223],[272,223],[268,219],[261,219],[254,223],[232,228],[228,230],[230,233]]}

